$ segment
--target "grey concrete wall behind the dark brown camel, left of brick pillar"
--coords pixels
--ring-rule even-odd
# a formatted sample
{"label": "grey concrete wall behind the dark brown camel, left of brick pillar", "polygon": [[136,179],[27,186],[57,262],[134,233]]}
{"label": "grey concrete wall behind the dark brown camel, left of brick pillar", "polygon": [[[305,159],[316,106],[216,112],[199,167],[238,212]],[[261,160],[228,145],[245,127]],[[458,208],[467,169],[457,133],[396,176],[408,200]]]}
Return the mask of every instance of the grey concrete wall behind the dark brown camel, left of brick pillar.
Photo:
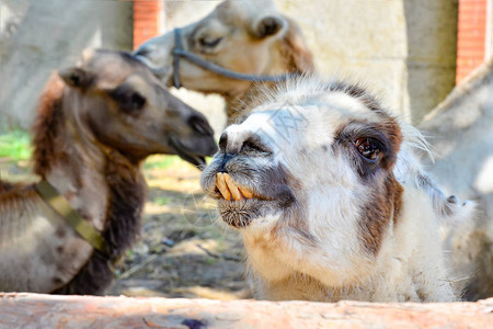
{"label": "grey concrete wall behind the dark brown camel, left of brick pillar", "polygon": [[28,127],[51,71],[84,48],[131,49],[131,2],[1,0],[0,16],[0,129]]}

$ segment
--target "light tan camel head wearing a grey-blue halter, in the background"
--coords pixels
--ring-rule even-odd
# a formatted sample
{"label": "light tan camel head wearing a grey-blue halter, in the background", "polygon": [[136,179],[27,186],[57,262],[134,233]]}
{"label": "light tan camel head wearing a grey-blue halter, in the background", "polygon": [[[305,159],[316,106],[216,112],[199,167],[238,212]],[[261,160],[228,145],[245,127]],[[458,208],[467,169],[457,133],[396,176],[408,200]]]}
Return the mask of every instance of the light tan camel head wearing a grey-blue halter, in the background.
{"label": "light tan camel head wearing a grey-blue halter, in the background", "polygon": [[[272,1],[227,0],[180,32],[183,50],[236,72],[276,76],[313,70],[312,55],[299,26],[278,13]],[[168,32],[151,38],[135,53],[168,86],[173,84],[175,41],[175,33]],[[259,92],[259,83],[227,78],[185,58],[180,60],[175,73],[180,86],[186,89],[221,94],[228,124],[252,107]]]}

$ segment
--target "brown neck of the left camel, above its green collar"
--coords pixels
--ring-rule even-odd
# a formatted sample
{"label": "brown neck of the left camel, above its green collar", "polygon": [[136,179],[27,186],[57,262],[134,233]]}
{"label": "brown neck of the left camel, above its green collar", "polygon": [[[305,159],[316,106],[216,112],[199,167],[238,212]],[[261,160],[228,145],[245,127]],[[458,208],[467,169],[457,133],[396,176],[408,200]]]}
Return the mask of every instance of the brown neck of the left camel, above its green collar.
{"label": "brown neck of the left camel, above its green collar", "polygon": [[[35,172],[100,231],[111,227],[111,220],[118,217],[115,212],[122,207],[129,206],[125,216],[133,218],[126,220],[137,223],[145,184],[139,166],[96,141],[83,112],[79,111],[80,95],[65,92],[57,82],[48,84],[53,90],[45,92],[38,109],[34,132]],[[136,229],[135,225],[129,225],[131,230]],[[115,241],[114,247],[121,249],[119,245]]]}

